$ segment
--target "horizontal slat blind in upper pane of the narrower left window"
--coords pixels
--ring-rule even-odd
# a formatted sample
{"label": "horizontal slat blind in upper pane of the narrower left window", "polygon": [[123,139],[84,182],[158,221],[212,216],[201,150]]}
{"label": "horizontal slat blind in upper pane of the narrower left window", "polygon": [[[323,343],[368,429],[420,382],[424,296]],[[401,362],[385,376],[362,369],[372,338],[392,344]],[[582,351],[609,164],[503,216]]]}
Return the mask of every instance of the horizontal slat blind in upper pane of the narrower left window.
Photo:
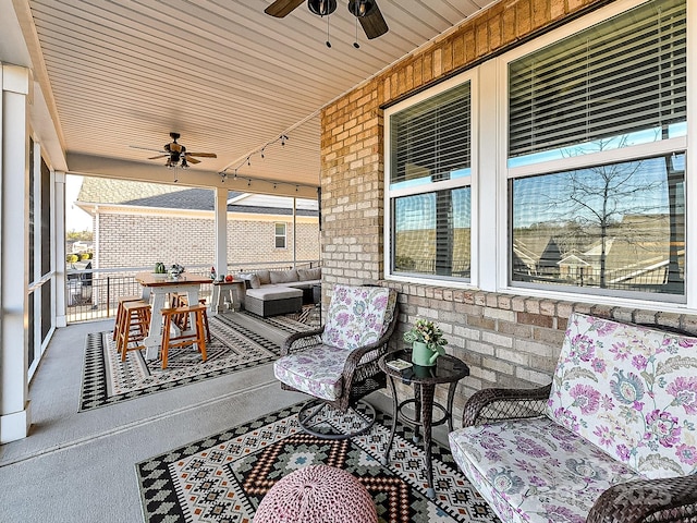
{"label": "horizontal slat blind in upper pane of the narrower left window", "polygon": [[392,183],[448,180],[470,167],[470,96],[466,82],[390,119]]}

